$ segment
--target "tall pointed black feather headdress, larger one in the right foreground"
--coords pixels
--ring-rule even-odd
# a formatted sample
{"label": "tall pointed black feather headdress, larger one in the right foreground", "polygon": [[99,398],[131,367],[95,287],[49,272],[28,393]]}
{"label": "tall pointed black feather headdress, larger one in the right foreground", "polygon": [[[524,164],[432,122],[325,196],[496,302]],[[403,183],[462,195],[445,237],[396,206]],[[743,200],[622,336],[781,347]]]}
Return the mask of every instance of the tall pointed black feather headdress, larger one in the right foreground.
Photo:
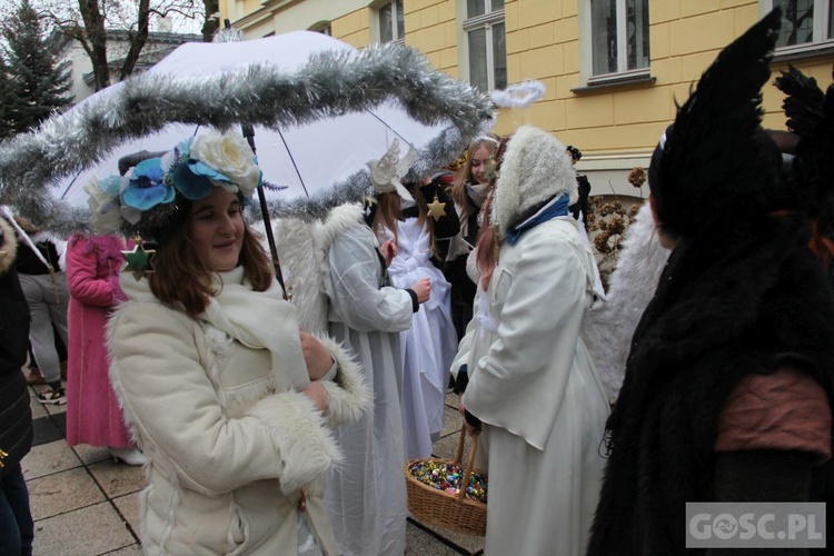
{"label": "tall pointed black feather headdress, larger one in the right foreground", "polygon": [[774,9],[718,54],[655,149],[649,187],[673,236],[724,234],[778,193],[780,156],[761,130],[761,103],[781,16]]}

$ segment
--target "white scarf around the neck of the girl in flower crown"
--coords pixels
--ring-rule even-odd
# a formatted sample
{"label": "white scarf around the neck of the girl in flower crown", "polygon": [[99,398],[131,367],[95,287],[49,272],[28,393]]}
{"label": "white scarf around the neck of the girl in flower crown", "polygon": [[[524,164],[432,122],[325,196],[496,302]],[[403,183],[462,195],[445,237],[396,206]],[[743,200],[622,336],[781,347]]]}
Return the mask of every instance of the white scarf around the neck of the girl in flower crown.
{"label": "white scarf around the neck of the girl in flower crown", "polygon": [[242,267],[218,272],[218,294],[198,316],[252,349],[268,349],[279,391],[300,389],[310,383],[301,350],[298,310],[281,298],[277,280],[266,291],[252,291]]}

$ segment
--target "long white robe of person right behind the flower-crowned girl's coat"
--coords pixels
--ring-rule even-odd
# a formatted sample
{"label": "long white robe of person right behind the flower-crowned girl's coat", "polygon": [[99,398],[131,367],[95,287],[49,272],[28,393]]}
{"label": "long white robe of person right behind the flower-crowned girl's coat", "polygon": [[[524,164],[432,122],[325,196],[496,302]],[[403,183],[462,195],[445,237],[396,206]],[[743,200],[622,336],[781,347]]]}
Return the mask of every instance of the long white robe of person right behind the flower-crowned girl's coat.
{"label": "long white robe of person right behind the flower-crowned girl's coat", "polygon": [[398,332],[411,326],[411,297],[387,285],[376,238],[360,218],[345,226],[337,214],[328,224],[321,246],[329,332],[356,353],[374,407],[336,431],[345,463],[327,481],[326,502],[344,555],[401,555],[407,509]]}

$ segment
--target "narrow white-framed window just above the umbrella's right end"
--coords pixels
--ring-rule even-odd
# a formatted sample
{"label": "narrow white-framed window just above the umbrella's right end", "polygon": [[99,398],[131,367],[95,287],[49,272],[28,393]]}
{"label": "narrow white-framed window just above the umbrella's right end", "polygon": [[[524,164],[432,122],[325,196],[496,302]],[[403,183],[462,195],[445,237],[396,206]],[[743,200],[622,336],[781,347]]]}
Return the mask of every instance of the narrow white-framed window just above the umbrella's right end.
{"label": "narrow white-framed window just above the umbrella's right end", "polygon": [[464,31],[469,52],[469,82],[481,91],[507,87],[504,0],[466,0]]}

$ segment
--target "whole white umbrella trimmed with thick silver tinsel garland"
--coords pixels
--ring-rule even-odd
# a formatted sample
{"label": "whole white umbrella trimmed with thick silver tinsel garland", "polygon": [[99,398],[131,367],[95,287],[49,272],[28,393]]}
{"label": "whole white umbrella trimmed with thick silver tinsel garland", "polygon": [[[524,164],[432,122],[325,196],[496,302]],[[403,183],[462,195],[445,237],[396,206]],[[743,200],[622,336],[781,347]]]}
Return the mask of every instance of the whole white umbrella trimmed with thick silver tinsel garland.
{"label": "whole white umbrella trimmed with thick silver tinsel garland", "polygon": [[271,193],[271,212],[315,218],[370,192],[365,165],[395,139],[417,149],[413,178],[456,158],[492,125],[493,105],[404,46],[356,50],[306,31],[189,43],[0,143],[0,203],[57,234],[89,230],[79,190],[91,177],[199,126],[241,122],[255,125],[266,180],[287,188]]}

